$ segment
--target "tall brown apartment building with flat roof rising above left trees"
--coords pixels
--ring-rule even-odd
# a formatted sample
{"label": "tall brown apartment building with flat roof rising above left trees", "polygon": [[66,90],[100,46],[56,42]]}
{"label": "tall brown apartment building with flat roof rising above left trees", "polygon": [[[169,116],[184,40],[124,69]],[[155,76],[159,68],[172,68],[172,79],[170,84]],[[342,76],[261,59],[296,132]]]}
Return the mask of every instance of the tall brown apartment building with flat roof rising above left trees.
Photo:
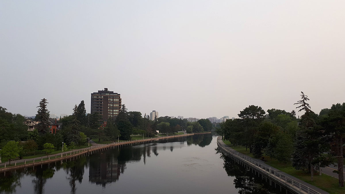
{"label": "tall brown apartment building with flat roof rising above left trees", "polygon": [[115,118],[120,109],[120,94],[108,91],[108,88],[91,94],[91,114],[99,113],[103,120],[107,120],[109,117]]}

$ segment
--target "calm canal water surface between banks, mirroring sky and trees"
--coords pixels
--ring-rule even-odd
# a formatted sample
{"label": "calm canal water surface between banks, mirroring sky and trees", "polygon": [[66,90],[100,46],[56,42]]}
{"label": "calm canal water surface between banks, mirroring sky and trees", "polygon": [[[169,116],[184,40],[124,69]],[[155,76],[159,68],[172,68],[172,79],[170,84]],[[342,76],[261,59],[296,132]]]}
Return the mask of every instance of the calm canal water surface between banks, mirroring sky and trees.
{"label": "calm canal water surface between banks, mirroring sky and trees", "polygon": [[[217,152],[217,136],[127,146],[0,174],[0,193],[268,193]],[[273,193],[279,193],[274,192]]]}

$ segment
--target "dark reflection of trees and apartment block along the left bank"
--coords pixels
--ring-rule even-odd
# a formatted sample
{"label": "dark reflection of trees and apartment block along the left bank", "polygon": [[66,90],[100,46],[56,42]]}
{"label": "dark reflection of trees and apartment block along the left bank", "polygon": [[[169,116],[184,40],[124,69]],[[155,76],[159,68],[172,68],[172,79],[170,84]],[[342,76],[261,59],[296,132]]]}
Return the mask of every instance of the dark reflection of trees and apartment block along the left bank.
{"label": "dark reflection of trees and apartment block along the left bank", "polygon": [[[83,182],[85,171],[89,173],[89,183],[100,185],[104,188],[107,184],[116,183],[119,180],[120,175],[124,174],[126,163],[128,162],[136,163],[142,161],[144,165],[146,165],[147,158],[158,156],[159,151],[170,150],[170,152],[173,152],[176,148],[185,147],[185,142],[188,146],[198,145],[199,147],[205,147],[212,142],[212,139],[212,136],[206,134],[160,140],[157,143],[125,146],[99,151],[90,156],[72,158],[61,163],[50,163],[1,173],[0,193],[17,193],[17,189],[21,187],[21,179],[25,177],[25,179],[31,179],[31,184],[26,184],[24,186],[31,186],[34,193],[48,193],[48,190],[45,191],[45,187],[47,187],[46,189],[51,189],[51,184],[64,184],[65,182],[63,182],[62,179],[65,179],[69,185],[69,191],[66,192],[75,194],[78,193],[78,184],[80,185]],[[188,152],[188,150],[186,150],[186,152]],[[65,173],[63,173],[64,175],[61,173],[55,175],[58,171],[64,171]],[[61,175],[64,177],[61,177]],[[52,180],[54,183],[50,182],[46,184],[48,180],[55,176],[59,177],[59,179]]]}

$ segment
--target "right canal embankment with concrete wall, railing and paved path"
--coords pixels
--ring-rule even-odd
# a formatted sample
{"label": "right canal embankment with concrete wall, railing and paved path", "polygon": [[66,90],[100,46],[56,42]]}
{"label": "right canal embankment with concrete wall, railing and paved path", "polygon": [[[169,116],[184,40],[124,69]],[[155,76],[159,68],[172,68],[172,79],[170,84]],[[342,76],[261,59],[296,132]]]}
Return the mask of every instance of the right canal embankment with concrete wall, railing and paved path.
{"label": "right canal embankment with concrete wall, railing and paved path", "polygon": [[[248,157],[242,153],[237,152],[236,150],[227,146],[221,136],[217,138],[217,145],[221,150],[231,156],[233,159],[236,160],[239,164],[245,165],[248,169],[252,171],[256,171],[258,175],[261,175],[263,178],[268,178],[268,180],[274,182],[275,186],[278,184],[279,186],[283,186],[284,188],[289,189],[295,193],[311,193],[311,194],[327,194],[326,191],[308,184],[302,180],[299,180],[296,177],[293,177],[289,174],[286,174],[278,169],[266,165],[263,161],[255,158]],[[255,174],[256,174],[255,172]]]}

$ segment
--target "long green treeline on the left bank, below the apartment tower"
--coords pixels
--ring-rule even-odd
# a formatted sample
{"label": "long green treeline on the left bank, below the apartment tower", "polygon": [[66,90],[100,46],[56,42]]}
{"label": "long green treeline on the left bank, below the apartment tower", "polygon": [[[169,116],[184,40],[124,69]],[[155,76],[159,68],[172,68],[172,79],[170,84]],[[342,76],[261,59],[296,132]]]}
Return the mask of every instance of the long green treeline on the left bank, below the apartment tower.
{"label": "long green treeline on the left bank, below the apartment tower", "polygon": [[82,100],[73,108],[73,114],[61,118],[62,125],[55,134],[50,133],[48,101],[43,98],[39,102],[35,121],[35,130],[28,131],[24,124],[25,118],[20,114],[7,112],[0,107],[0,149],[3,159],[14,159],[30,154],[52,153],[54,150],[75,149],[87,143],[88,138],[96,142],[130,140],[132,134],[155,137],[160,133],[175,134],[180,130],[187,133],[210,131],[212,125],[207,119],[189,123],[186,119],[170,118],[168,116],[151,120],[149,116],[138,111],[127,111],[122,105],[116,118],[103,121],[98,113],[86,114],[85,103]]}

